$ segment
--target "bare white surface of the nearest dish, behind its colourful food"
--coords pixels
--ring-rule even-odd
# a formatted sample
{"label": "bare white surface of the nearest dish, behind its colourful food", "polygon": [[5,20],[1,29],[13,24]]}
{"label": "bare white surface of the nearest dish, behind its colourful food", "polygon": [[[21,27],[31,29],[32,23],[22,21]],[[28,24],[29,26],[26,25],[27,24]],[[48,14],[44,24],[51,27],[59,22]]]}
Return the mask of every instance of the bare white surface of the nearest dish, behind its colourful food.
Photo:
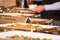
{"label": "bare white surface of the nearest dish, behind its colourful food", "polygon": [[52,40],[60,40],[60,35],[51,35],[51,34],[44,34],[44,33],[34,33],[34,32],[25,32],[25,31],[9,31],[9,32],[1,32],[0,38],[6,38],[7,36],[14,36],[14,35],[24,35],[32,38],[52,38]]}

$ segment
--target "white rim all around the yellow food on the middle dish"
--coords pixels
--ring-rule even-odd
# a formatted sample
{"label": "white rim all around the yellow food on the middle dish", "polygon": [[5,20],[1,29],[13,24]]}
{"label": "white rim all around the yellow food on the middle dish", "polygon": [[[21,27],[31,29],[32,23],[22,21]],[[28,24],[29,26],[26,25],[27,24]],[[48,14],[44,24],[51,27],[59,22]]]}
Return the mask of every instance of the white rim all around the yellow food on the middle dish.
{"label": "white rim all around the yellow food on the middle dish", "polygon": [[[14,24],[22,24],[22,25],[28,25],[29,23],[11,23],[11,24],[0,24],[0,28],[5,28],[5,29],[22,29],[22,30],[36,30],[36,29],[26,29],[26,28],[14,28],[14,27],[10,27],[11,25]],[[40,24],[32,24],[32,25],[39,25],[39,27],[42,27],[43,29],[47,28],[47,29],[51,29],[53,27],[59,27],[59,26],[51,26],[51,25],[40,25]],[[38,29],[37,29],[38,30]],[[40,30],[40,29],[39,29]]]}

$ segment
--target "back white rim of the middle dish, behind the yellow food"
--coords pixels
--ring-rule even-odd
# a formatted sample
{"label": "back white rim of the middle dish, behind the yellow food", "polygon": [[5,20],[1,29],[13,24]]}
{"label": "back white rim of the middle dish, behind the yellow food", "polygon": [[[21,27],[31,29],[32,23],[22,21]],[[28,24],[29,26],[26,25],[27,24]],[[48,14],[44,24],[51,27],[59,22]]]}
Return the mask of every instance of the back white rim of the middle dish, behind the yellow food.
{"label": "back white rim of the middle dish, behind the yellow food", "polygon": [[[7,23],[7,24],[0,24],[0,27],[9,27],[9,26],[11,26],[11,25],[13,25],[13,24],[27,25],[27,24],[30,24],[30,23]],[[59,26],[40,25],[40,24],[32,24],[32,25],[39,25],[39,26],[41,26],[41,27],[43,27],[43,28],[48,28],[48,29],[53,28],[53,27],[59,27]]]}

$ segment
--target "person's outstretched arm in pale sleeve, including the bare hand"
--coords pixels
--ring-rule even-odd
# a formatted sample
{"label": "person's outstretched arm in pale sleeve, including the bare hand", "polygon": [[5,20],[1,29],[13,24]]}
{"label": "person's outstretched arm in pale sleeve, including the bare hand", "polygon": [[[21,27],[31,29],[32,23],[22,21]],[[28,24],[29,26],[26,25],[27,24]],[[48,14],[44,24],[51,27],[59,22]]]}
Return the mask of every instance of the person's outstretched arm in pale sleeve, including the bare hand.
{"label": "person's outstretched arm in pale sleeve, including the bare hand", "polygon": [[48,11],[48,10],[60,10],[60,2],[56,2],[56,3],[53,3],[53,4],[49,4],[49,5],[40,5],[40,6],[37,6],[35,8],[35,10],[33,11],[36,11],[36,12],[42,12],[42,11]]}

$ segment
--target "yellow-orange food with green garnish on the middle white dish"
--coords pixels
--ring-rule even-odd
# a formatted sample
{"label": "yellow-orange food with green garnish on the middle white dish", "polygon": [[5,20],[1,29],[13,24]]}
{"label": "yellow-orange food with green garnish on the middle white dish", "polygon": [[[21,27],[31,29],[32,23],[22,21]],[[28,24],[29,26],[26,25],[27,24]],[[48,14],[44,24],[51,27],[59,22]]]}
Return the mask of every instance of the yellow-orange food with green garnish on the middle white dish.
{"label": "yellow-orange food with green garnish on the middle white dish", "polygon": [[37,29],[37,30],[42,30],[43,28],[39,25],[32,25],[32,24],[13,24],[11,25],[12,28],[21,28],[21,29]]}

